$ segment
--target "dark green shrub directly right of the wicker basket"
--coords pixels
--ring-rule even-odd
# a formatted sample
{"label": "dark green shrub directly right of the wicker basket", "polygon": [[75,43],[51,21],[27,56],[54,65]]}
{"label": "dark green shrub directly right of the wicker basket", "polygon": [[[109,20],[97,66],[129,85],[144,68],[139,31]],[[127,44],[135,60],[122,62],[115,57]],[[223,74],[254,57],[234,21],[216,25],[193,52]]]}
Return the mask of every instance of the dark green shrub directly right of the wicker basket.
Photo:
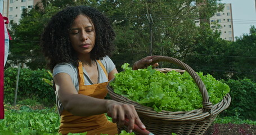
{"label": "dark green shrub directly right of the wicker basket", "polygon": [[256,120],[256,83],[250,79],[230,79],[225,83],[230,86],[231,104],[221,114]]}

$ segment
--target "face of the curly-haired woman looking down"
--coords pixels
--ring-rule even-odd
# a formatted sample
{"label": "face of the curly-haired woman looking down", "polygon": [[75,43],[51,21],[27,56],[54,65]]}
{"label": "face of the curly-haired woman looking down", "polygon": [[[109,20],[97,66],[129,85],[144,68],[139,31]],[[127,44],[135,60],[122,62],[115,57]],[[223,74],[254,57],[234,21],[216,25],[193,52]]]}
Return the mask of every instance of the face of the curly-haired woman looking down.
{"label": "face of the curly-haired woman looking down", "polygon": [[95,46],[95,37],[96,33],[91,19],[85,15],[78,15],[69,32],[71,44],[78,56],[89,55]]}

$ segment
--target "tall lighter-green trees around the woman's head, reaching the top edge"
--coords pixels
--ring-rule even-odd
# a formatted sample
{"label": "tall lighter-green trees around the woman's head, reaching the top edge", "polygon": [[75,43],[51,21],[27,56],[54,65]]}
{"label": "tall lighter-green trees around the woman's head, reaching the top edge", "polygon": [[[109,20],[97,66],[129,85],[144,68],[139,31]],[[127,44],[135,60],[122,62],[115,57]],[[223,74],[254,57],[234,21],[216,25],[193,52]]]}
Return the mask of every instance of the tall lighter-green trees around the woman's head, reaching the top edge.
{"label": "tall lighter-green trees around the woman's head, reaching the top edge", "polygon": [[[210,17],[214,12],[222,9],[217,1],[220,0],[209,0],[206,4],[207,8],[203,8],[196,5],[203,0],[43,0],[41,6],[24,11],[19,25],[14,24],[13,46],[17,50],[11,47],[11,54],[17,56],[17,59],[24,57],[19,61],[28,65],[31,63],[29,66],[32,69],[43,68],[45,60],[39,52],[41,50],[39,39],[44,25],[56,11],[66,6],[84,4],[96,7],[113,23],[116,32],[114,42],[116,51],[113,61],[117,65],[122,65],[123,62],[133,63],[149,55],[150,44],[152,44],[152,55],[183,59],[186,53],[194,49],[194,44],[199,39],[197,37],[200,29],[195,24],[195,21],[200,19],[199,11],[203,11],[206,17]],[[22,46],[26,47],[23,50],[25,55],[19,56]]]}

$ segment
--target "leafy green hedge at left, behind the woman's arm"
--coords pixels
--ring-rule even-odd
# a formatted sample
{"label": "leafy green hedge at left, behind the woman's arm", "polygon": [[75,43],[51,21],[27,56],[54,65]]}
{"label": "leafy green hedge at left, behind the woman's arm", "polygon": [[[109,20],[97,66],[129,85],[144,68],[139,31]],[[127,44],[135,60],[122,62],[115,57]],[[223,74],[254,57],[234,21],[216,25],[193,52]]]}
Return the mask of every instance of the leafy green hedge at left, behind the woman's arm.
{"label": "leafy green hedge at left, behind the woman's arm", "polygon": [[[10,102],[11,104],[14,103],[16,77],[17,68],[5,70],[5,102]],[[52,79],[45,69],[20,69],[17,102],[26,98],[37,97],[41,104],[54,105],[56,100],[55,93],[42,78]]]}

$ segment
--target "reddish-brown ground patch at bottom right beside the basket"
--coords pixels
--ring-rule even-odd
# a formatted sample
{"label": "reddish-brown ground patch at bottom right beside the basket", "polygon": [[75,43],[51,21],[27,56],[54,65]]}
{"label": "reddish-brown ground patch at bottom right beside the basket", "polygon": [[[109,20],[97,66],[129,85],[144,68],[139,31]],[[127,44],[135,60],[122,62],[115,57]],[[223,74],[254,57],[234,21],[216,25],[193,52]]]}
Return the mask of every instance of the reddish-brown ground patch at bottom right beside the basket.
{"label": "reddish-brown ground patch at bottom right beside the basket", "polygon": [[213,124],[204,135],[256,135],[256,125],[249,124]]}

